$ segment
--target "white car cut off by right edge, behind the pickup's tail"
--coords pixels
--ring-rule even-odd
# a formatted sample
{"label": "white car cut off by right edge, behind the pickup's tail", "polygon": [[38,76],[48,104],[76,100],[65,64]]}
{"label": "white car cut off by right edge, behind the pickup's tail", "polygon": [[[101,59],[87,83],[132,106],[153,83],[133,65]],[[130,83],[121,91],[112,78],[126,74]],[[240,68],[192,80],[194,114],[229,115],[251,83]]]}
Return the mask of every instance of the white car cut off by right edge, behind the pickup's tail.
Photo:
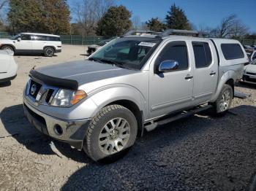
{"label": "white car cut off by right edge, behind the pickup's tail", "polygon": [[241,82],[256,84],[256,60],[247,66],[244,66],[244,75]]}

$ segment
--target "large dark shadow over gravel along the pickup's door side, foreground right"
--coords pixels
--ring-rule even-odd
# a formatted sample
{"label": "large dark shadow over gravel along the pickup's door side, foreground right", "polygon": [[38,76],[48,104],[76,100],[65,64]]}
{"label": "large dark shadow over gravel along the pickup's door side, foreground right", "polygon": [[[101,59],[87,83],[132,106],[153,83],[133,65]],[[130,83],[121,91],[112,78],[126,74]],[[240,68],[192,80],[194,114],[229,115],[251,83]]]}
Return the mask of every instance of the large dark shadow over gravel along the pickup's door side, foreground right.
{"label": "large dark shadow over gravel along the pickup's door side, foreground right", "polygon": [[[201,186],[203,190],[241,188],[241,185],[249,184],[255,170],[250,163],[254,162],[247,159],[246,168],[242,169],[234,161],[240,163],[237,161],[244,160],[247,152],[252,152],[254,147],[251,145],[246,150],[241,149],[244,143],[227,142],[238,137],[255,139],[256,130],[252,126],[255,124],[255,113],[255,106],[237,106],[230,109],[225,117],[200,114],[163,125],[139,138],[128,155],[116,163],[90,163],[80,168],[69,177],[61,190],[173,190],[176,187],[197,190]],[[244,120],[244,117],[249,117],[249,120]],[[238,121],[243,123],[236,125]],[[232,137],[234,135],[235,138]],[[216,138],[218,136],[221,138]],[[238,171],[239,175],[236,174],[237,182],[230,184],[226,174],[232,174],[232,171]],[[240,184],[239,178],[248,182]]]}

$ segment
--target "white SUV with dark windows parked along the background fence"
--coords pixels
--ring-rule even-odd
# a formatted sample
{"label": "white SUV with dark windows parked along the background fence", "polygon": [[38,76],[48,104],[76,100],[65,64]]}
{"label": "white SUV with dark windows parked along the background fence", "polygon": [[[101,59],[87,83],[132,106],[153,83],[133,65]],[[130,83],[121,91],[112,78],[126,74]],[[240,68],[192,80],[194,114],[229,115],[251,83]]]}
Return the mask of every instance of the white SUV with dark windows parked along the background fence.
{"label": "white SUV with dark windows parked along the background fence", "polygon": [[10,39],[0,39],[0,49],[12,50],[15,54],[44,53],[50,57],[61,52],[61,38],[52,34],[20,33]]}

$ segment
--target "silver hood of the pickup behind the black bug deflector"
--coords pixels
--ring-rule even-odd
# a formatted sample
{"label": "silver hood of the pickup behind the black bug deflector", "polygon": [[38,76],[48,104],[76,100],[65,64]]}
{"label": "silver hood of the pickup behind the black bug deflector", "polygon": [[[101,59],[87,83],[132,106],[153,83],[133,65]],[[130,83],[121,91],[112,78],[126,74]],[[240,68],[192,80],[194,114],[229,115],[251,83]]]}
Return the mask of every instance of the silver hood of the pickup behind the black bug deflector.
{"label": "silver hood of the pickup behind the black bug deflector", "polygon": [[138,72],[94,61],[61,63],[53,66],[36,68],[35,70],[50,77],[73,79],[78,82],[78,85]]}

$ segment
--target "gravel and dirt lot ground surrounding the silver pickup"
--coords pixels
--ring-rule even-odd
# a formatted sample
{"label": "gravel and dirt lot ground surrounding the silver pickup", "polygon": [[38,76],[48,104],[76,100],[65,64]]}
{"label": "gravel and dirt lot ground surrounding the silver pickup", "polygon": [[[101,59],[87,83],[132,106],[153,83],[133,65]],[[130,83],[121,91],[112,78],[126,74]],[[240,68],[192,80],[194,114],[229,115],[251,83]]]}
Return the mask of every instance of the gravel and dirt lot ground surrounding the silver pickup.
{"label": "gravel and dirt lot ground surrounding the silver pickup", "polygon": [[0,190],[246,190],[256,172],[256,86],[236,87],[252,96],[235,98],[225,117],[200,114],[159,127],[110,165],[34,129],[22,106],[29,70],[83,60],[85,50],[15,56],[18,77],[0,85]]}

